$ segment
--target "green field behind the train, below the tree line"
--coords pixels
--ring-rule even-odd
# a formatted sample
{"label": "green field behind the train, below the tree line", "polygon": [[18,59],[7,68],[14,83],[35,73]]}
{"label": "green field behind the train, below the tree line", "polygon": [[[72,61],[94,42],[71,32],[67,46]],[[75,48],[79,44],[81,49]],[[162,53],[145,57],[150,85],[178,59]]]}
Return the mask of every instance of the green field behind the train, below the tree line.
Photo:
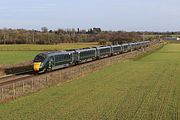
{"label": "green field behind the train, below the tree line", "polygon": [[33,60],[42,51],[77,49],[97,43],[63,43],[58,45],[0,45],[0,64],[16,64]]}

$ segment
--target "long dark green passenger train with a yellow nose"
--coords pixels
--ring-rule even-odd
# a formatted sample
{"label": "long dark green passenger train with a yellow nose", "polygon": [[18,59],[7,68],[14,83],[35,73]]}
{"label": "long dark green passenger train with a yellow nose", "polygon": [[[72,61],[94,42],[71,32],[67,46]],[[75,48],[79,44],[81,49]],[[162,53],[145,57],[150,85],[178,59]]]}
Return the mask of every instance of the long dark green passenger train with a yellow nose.
{"label": "long dark green passenger train with a yellow nose", "polygon": [[87,61],[93,61],[148,47],[150,41],[125,43],[121,45],[98,46],[65,51],[44,52],[33,60],[33,71],[45,73]]}

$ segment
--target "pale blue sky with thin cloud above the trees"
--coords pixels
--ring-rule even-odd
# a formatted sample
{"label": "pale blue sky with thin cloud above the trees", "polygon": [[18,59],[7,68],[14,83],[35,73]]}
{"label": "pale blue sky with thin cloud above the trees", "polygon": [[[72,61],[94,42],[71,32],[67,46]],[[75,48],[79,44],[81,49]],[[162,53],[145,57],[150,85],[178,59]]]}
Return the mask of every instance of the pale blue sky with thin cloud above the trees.
{"label": "pale blue sky with thin cloud above the trees", "polygon": [[0,28],[180,31],[180,0],[0,0]]}

